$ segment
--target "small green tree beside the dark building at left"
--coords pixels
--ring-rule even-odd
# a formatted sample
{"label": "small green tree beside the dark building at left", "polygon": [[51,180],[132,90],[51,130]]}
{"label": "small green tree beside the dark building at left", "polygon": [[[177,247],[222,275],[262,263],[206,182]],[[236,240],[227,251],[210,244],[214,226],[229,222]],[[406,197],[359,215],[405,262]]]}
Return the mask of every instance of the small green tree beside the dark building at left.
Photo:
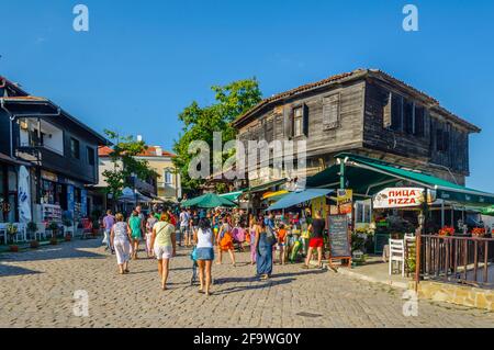
{"label": "small green tree beside the dark building at left", "polygon": [[110,161],[112,169],[103,171],[103,178],[108,185],[104,192],[111,194],[113,199],[122,195],[126,187],[132,187],[132,177],[146,181],[149,177],[159,177],[156,171],[149,168],[147,160],[136,159],[135,156],[144,153],[147,146],[144,142],[138,142],[133,136],[121,136],[112,131],[104,131],[104,134],[113,143]]}

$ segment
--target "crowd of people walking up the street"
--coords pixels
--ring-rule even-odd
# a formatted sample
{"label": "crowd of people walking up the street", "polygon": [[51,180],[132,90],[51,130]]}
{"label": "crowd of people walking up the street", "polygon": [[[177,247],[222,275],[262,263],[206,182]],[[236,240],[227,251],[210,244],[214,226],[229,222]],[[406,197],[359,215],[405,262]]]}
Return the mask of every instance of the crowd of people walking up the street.
{"label": "crowd of people walking up the street", "polygon": [[148,259],[158,263],[160,286],[167,290],[170,260],[177,256],[177,247],[191,248],[191,258],[199,270],[200,293],[211,295],[212,266],[223,263],[229,257],[235,268],[236,251],[250,250],[250,264],[257,275],[268,280],[272,275],[278,252],[278,263],[294,262],[305,257],[303,268],[308,268],[314,250],[317,267],[323,268],[325,221],[321,213],[312,217],[307,212],[287,219],[283,215],[247,215],[243,210],[188,210],[173,213],[170,208],[144,213],[136,206],[132,214],[113,215],[108,211],[103,217],[105,249],[116,256],[121,274],[130,273],[130,261],[139,259],[139,246]]}

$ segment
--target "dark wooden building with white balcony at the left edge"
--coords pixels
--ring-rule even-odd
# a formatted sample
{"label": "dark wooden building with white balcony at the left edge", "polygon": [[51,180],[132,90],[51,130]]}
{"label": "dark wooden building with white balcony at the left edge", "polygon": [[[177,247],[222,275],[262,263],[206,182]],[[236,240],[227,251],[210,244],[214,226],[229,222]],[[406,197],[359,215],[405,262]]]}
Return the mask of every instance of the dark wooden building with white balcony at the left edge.
{"label": "dark wooden building with white balcony at the left edge", "polygon": [[0,222],[19,219],[20,166],[30,173],[33,221],[60,222],[61,213],[76,221],[88,216],[92,204],[86,187],[98,182],[98,147],[109,142],[50,100],[2,77],[0,104],[0,169],[8,170],[0,171],[0,203],[10,210]]}

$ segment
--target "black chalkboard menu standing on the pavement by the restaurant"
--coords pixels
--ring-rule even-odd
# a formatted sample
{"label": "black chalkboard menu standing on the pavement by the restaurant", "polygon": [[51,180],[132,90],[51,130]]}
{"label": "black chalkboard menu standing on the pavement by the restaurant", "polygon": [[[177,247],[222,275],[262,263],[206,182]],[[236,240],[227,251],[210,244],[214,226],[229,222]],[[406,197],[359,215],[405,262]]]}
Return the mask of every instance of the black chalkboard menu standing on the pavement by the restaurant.
{"label": "black chalkboard menu standing on the pavement by the restaurant", "polygon": [[330,258],[350,258],[351,248],[350,239],[348,237],[348,216],[329,215],[327,223]]}

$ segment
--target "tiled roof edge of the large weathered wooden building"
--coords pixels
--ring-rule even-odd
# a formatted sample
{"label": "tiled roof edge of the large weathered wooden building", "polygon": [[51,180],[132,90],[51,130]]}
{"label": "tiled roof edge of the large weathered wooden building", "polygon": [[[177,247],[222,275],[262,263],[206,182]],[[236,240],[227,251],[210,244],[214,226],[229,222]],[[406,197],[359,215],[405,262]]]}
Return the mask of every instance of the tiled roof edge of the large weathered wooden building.
{"label": "tiled roof edge of the large weathered wooden building", "polygon": [[240,115],[236,121],[233,122],[234,126],[239,125],[242,122],[244,122],[245,120],[247,120],[249,116],[252,116],[256,112],[258,112],[259,110],[261,110],[262,108],[274,103],[274,102],[279,102],[282,101],[284,99],[301,94],[303,92],[306,92],[308,90],[313,90],[319,87],[324,87],[327,84],[333,84],[333,83],[337,83],[337,82],[341,82],[345,80],[352,80],[352,79],[363,79],[368,76],[372,76],[375,78],[382,78],[385,80],[390,80],[393,83],[396,83],[398,86],[402,86],[405,89],[408,89],[411,91],[413,91],[414,93],[417,93],[419,95],[422,95],[425,100],[427,100],[429,103],[435,104],[435,109],[438,112],[448,114],[452,120],[454,120],[456,122],[463,124],[465,127],[474,131],[474,132],[480,132],[480,128],[469,122],[467,122],[465,120],[461,118],[460,116],[451,113],[450,111],[446,110],[445,108],[439,105],[439,102],[431,98],[430,95],[428,95],[427,93],[425,93],[424,91],[417,90],[414,87],[407,84],[406,82],[394,78],[393,76],[379,70],[379,69],[356,69],[353,71],[350,72],[344,72],[344,74],[339,74],[339,75],[335,75],[332,76],[329,78],[316,81],[316,82],[312,82],[312,83],[306,83],[303,84],[301,87],[297,87],[295,89],[291,89],[289,91],[285,92],[281,92],[281,93],[277,93],[270,98],[267,98],[265,100],[262,100],[261,102],[259,102],[257,105],[255,105],[252,109],[250,109],[249,111],[247,111],[246,113],[244,113],[243,115]]}

